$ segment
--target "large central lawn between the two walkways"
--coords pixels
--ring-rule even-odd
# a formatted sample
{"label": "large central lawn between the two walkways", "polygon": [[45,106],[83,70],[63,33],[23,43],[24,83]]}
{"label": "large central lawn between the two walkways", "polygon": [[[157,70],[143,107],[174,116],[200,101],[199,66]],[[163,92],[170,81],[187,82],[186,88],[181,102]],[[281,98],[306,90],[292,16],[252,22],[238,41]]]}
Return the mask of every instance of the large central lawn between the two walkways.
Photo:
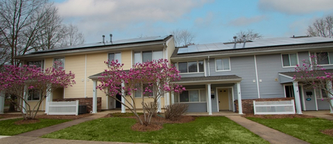
{"label": "large central lawn between the two walkways", "polygon": [[222,116],[165,124],[163,129],[153,132],[133,131],[131,127],[135,123],[133,118],[99,118],[42,137],[129,143],[268,143]]}

